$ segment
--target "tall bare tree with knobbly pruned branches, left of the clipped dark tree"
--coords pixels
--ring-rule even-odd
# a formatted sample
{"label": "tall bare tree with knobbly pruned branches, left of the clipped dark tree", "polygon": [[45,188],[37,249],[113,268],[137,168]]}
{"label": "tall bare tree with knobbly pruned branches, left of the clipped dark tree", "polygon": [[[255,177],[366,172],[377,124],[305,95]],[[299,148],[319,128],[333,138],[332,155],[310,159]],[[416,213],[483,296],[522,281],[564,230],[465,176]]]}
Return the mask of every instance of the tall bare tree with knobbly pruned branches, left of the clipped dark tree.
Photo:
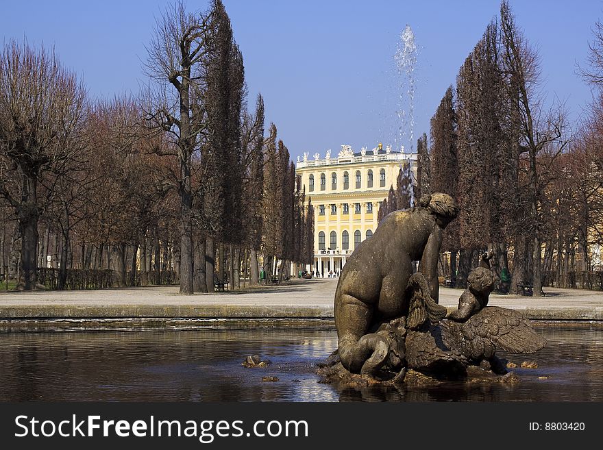
{"label": "tall bare tree with knobbly pruned branches, left of the clipped dark tree", "polygon": [[[207,131],[202,101],[206,62],[212,51],[212,13],[186,12],[178,1],[158,19],[147,47],[147,73],[156,82],[149,90],[147,118],[166,132],[177,156],[180,173],[180,293],[193,293],[193,153]],[[203,202],[201,202],[203,203]]]}

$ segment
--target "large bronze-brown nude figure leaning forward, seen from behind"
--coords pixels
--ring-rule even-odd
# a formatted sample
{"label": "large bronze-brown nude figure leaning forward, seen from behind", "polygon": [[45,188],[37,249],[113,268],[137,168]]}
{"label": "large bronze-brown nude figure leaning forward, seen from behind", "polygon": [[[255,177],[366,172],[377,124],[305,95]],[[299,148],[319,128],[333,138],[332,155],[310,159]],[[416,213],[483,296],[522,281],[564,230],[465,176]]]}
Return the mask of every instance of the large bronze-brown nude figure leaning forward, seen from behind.
{"label": "large bronze-brown nude figure leaning forward, seen from behind", "polygon": [[[417,288],[427,290],[421,298],[429,303],[418,310],[443,318],[446,310],[436,304],[437,264],[443,230],[457,214],[450,195],[423,196],[419,206],[388,214],[356,248],[341,272],[334,302],[339,357],[347,371],[371,375],[386,363],[390,344],[377,331],[391,319],[409,315]],[[419,261],[417,275],[413,261]]]}

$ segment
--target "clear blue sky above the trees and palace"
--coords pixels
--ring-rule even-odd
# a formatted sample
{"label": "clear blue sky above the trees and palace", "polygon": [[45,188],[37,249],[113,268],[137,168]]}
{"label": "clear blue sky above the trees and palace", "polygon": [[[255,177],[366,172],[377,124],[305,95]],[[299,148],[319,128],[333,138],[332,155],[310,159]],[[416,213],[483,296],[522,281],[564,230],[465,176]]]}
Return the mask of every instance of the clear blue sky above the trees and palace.
{"label": "clear blue sky above the trees and palace", "polygon": [[[429,121],[458,68],[482,36],[499,1],[223,0],[243,52],[253,108],[264,96],[291,155],[342,144],[374,147],[382,141],[410,147],[397,117],[402,80],[393,55],[408,24],[417,47],[414,140]],[[136,92],[140,61],[167,2],[2,1],[3,41],[26,36],[54,46],[63,64],[84,78],[90,95]],[[206,10],[208,1],[187,2]],[[542,89],[548,101],[565,102],[576,123],[591,99],[576,75],[603,18],[603,1],[511,0],[517,25],[541,55]],[[404,97],[407,105],[407,97]]]}

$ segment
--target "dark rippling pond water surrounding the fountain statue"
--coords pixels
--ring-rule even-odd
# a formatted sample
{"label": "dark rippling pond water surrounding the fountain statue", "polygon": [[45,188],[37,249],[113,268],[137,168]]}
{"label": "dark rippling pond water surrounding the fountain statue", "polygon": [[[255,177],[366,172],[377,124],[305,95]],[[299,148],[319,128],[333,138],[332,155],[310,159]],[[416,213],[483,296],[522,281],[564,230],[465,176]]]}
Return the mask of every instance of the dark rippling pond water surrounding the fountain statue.
{"label": "dark rippling pond water surrounding the fountain statue", "polygon": [[[547,347],[502,354],[538,362],[513,369],[517,384],[338,390],[314,374],[336,349],[333,327],[7,328],[0,332],[0,401],[603,401],[603,327],[537,330]],[[254,354],[271,366],[243,367]]]}

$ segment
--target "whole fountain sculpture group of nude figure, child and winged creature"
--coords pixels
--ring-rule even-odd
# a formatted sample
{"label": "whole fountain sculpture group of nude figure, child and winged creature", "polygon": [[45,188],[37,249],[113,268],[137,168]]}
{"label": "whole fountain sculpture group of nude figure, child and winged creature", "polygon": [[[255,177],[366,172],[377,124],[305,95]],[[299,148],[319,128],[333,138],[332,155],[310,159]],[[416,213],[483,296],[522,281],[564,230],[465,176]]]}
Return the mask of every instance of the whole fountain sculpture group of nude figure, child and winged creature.
{"label": "whole fountain sculpture group of nude figure, child and winged creature", "polygon": [[386,216],[356,247],[335,292],[339,349],[319,368],[325,381],[397,384],[411,369],[431,379],[497,377],[506,373],[497,349],[533,353],[545,345],[521,314],[487,306],[491,253],[469,274],[455,311],[438,304],[443,230],[457,214],[450,195],[426,195]]}

